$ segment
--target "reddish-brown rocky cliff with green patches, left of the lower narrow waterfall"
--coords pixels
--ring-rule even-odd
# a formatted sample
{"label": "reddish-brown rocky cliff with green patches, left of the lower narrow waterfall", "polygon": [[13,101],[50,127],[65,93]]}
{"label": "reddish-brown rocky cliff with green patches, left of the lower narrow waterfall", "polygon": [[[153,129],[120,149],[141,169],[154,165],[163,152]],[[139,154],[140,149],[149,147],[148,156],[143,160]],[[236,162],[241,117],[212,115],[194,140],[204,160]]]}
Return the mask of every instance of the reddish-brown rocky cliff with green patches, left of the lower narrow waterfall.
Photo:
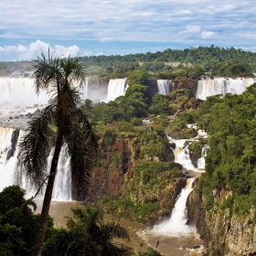
{"label": "reddish-brown rocky cliff with green patches, left of the lower narrow waterfall", "polygon": [[[144,182],[142,178],[145,176],[144,171],[136,171],[136,166],[141,165],[142,162],[156,163],[155,165],[157,163],[160,165],[162,162],[157,156],[151,159],[148,155],[142,155],[142,150],[148,143],[149,141],[136,137],[117,138],[110,144],[106,144],[102,139],[101,156],[91,175],[89,197],[86,198],[86,202],[94,204],[104,195],[115,195],[118,198],[130,198],[137,206],[143,204],[157,206],[157,210],[151,212],[144,221],[153,223],[162,216],[170,215],[176,197],[186,186],[187,179],[178,170],[181,170],[181,166],[171,161],[173,153],[168,146],[166,150],[169,157],[166,156],[161,160],[168,165],[169,170],[158,174],[155,183]],[[176,170],[178,171],[174,177],[173,173]],[[126,208],[125,205],[118,210],[126,210]],[[112,212],[111,207],[106,207],[105,210]]]}

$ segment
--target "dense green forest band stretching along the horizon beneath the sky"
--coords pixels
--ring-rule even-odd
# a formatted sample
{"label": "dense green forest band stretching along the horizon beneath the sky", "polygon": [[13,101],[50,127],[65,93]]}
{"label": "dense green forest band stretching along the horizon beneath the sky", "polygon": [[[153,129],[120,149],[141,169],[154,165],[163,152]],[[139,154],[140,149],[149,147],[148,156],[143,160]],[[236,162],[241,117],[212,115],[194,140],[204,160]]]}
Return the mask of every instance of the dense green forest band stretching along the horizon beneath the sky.
{"label": "dense green forest band stretching along the horizon beneath the sky", "polygon": [[[88,66],[89,75],[101,80],[128,77],[136,69],[144,69],[151,77],[172,79],[188,76],[189,67],[218,76],[251,76],[256,72],[256,53],[236,48],[198,47],[183,50],[167,48],[155,53],[129,54],[125,56],[80,57]],[[200,69],[199,67],[200,66]],[[0,62],[0,76],[10,76],[15,71],[29,76],[32,61]],[[197,74],[193,74],[195,77]]]}

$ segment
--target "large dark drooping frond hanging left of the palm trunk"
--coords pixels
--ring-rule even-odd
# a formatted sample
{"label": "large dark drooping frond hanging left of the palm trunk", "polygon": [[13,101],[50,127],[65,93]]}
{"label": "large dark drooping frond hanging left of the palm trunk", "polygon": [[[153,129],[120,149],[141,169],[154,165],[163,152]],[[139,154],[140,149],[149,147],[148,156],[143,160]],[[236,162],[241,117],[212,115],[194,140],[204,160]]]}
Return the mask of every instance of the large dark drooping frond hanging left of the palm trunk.
{"label": "large dark drooping frond hanging left of the palm trunk", "polygon": [[53,108],[48,106],[43,114],[29,123],[27,133],[19,144],[19,165],[35,187],[39,187],[46,176]]}

